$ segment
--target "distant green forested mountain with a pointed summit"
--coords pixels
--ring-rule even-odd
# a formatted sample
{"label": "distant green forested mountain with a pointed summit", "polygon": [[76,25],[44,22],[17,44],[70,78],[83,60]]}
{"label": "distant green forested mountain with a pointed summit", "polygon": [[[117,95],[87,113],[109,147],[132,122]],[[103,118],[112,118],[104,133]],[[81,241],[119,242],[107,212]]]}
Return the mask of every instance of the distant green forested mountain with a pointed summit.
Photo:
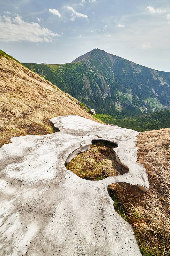
{"label": "distant green forested mountain with a pointed summit", "polygon": [[170,106],[170,72],[93,49],[72,63],[25,63],[60,89],[104,114],[140,114]]}

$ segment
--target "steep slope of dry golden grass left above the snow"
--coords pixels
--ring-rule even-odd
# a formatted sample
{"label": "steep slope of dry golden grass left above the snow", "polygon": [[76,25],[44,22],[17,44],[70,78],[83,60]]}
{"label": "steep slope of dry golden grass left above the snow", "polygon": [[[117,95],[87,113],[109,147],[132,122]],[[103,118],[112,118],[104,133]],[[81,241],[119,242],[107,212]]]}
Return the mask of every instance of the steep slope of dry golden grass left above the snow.
{"label": "steep slope of dry golden grass left above the snow", "polygon": [[76,103],[78,100],[0,51],[0,146],[13,136],[53,132],[48,122],[53,116],[75,114],[95,121]]}

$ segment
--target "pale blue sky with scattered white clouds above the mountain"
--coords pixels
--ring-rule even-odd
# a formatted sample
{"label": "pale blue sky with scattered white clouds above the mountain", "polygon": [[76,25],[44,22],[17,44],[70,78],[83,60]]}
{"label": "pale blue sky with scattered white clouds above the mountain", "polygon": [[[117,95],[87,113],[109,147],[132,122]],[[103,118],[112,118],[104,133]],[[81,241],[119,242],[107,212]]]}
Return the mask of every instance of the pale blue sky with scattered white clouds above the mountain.
{"label": "pale blue sky with scattered white clouds above the mountain", "polygon": [[170,0],[1,0],[0,49],[22,63],[105,50],[170,72]]}

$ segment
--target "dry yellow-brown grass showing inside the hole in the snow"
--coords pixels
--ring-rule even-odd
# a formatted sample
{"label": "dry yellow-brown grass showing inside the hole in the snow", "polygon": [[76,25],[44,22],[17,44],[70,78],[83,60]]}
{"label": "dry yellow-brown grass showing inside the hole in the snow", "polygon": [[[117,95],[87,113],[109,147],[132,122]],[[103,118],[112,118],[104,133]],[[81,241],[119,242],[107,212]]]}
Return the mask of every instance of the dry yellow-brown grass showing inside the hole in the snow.
{"label": "dry yellow-brown grass showing inside the hole in the snow", "polygon": [[101,180],[128,172],[116,162],[114,143],[97,142],[88,151],[78,154],[66,168],[86,180]]}

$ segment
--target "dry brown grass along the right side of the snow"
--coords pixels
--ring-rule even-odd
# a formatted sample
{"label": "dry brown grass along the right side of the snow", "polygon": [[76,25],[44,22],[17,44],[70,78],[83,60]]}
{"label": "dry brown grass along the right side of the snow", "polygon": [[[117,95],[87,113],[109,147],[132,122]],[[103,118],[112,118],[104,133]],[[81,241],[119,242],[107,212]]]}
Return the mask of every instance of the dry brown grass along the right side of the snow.
{"label": "dry brown grass along the right side of the snow", "polygon": [[150,191],[128,184],[110,186],[134,228],[143,255],[170,255],[170,129],[138,135],[138,162],[144,164]]}

